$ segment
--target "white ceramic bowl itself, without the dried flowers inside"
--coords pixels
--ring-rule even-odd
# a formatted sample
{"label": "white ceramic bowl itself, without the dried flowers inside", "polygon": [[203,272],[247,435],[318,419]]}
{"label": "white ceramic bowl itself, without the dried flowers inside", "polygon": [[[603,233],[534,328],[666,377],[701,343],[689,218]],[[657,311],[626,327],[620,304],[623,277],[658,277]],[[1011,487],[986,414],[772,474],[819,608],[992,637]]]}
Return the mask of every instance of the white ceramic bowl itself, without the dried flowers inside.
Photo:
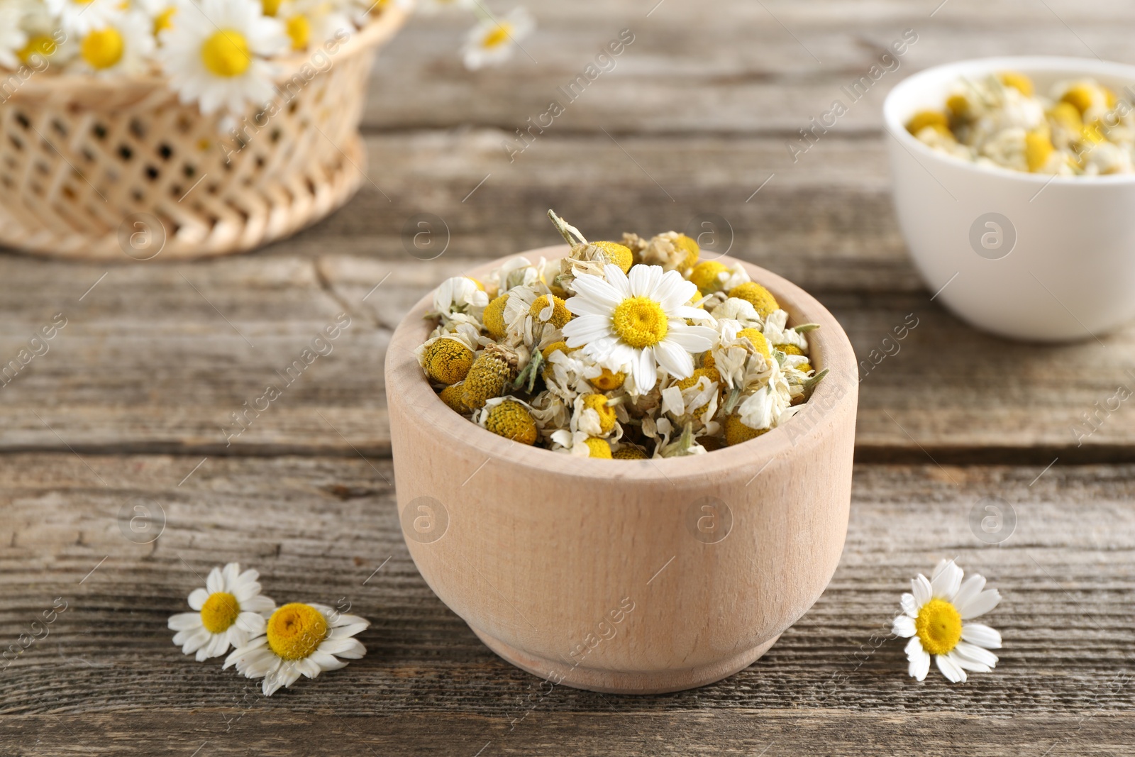
{"label": "white ceramic bowl itself, without the dried flowers inside", "polygon": [[942,110],[960,77],[1003,70],[1028,75],[1041,93],[1092,77],[1135,99],[1135,87],[1123,92],[1135,66],[1079,58],[984,58],[906,78],[883,106],[899,226],[926,286],[962,320],[1019,339],[1091,338],[1135,316],[1135,175],[976,166],[905,126],[919,110]]}

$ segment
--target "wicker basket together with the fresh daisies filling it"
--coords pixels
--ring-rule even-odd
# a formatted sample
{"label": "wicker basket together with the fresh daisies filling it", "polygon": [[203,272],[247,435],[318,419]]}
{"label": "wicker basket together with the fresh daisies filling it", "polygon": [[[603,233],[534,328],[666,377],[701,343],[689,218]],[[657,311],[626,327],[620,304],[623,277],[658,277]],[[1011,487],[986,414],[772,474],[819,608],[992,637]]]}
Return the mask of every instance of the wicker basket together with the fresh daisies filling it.
{"label": "wicker basket together with the fresh daisies filling it", "polygon": [[400,0],[0,0],[0,244],[249,250],[344,203]]}

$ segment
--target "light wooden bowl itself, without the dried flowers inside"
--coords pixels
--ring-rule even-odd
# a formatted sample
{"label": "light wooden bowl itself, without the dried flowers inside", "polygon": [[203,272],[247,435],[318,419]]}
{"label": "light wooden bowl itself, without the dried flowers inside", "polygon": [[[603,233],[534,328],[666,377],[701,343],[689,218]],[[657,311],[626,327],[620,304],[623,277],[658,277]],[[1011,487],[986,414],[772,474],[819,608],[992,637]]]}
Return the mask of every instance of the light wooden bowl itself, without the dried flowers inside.
{"label": "light wooden bowl itself, without the dried flowers inside", "polygon": [[812,363],[831,372],[783,427],[706,455],[592,460],[490,434],[449,410],[414,358],[430,296],[395,330],[386,388],[406,546],[510,663],[592,691],[690,689],[760,657],[827,586],[851,498],[855,353],[815,298],[745,266],[791,323],[821,325]]}

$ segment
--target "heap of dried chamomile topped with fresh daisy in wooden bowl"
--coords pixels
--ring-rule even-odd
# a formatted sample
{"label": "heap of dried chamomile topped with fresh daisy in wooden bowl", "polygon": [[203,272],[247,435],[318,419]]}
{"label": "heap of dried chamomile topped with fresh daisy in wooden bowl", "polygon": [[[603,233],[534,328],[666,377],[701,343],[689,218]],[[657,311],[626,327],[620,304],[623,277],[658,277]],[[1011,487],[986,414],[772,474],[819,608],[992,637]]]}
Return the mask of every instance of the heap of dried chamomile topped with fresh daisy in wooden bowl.
{"label": "heap of dried chamomile topped with fresh daisy in wooden bowl", "polygon": [[589,243],[548,216],[568,258],[447,279],[427,314],[422,370],[489,431],[590,457],[703,454],[784,423],[826,373],[816,326],[790,328],[739,263],[699,261],[674,232]]}

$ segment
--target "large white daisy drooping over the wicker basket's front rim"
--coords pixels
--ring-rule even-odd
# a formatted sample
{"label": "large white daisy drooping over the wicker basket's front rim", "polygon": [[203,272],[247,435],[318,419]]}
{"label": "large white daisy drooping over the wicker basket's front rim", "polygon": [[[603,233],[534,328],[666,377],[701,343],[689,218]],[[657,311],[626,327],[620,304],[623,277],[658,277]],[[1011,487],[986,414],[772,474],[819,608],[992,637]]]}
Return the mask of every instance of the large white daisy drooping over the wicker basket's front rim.
{"label": "large white daisy drooping over the wicker basket's front rim", "polygon": [[161,42],[170,86],[204,115],[270,101],[275,67],[266,58],[288,47],[284,25],[264,16],[255,0],[180,0]]}

